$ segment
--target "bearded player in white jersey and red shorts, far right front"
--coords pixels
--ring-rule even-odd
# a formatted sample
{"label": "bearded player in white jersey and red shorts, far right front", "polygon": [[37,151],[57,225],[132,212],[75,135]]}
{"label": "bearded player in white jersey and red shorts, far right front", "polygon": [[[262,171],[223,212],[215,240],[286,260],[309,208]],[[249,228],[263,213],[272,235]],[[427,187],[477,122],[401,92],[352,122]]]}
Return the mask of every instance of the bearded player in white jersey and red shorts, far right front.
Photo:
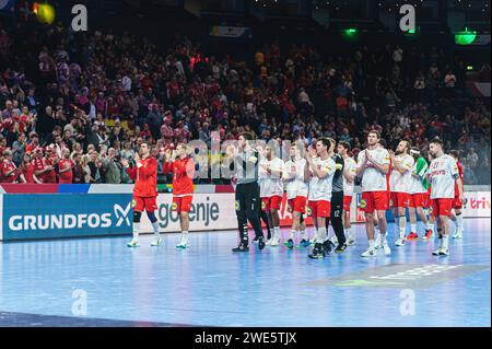
{"label": "bearded player in white jersey and red shorts, far right front", "polygon": [[[433,255],[449,255],[449,216],[455,199],[455,182],[459,179],[456,160],[443,151],[443,143],[436,139],[429,144],[429,152],[434,160],[429,166],[427,181],[431,183],[432,214],[441,222],[442,236],[440,247]],[[459,199],[462,200],[462,187],[458,186]]]}

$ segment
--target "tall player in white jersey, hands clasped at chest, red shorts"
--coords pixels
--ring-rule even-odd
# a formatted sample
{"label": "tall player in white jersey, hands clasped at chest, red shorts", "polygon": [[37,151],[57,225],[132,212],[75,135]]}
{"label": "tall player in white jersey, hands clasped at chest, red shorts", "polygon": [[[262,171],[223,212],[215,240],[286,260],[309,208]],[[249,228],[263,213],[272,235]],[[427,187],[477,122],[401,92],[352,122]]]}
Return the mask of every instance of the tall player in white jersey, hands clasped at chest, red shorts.
{"label": "tall player in white jersey, hands clasped at chest, red shorts", "polygon": [[358,175],[362,176],[361,205],[365,212],[365,229],[368,240],[368,248],[362,257],[371,257],[376,254],[374,241],[374,211],[377,211],[380,244],[385,254],[389,255],[391,249],[386,240],[387,222],[386,210],[388,209],[388,186],[386,174],[389,171],[389,153],[378,144],[380,135],[372,130],[367,135],[367,149],[361,151],[358,158]]}

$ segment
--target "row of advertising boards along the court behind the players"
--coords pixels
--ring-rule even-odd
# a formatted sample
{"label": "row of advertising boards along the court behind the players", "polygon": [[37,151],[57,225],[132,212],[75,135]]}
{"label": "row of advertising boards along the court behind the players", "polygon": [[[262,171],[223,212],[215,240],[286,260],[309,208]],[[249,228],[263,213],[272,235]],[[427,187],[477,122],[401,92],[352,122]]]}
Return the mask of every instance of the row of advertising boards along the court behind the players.
{"label": "row of advertising boards along the court behind the players", "polygon": [[[164,186],[161,189],[166,189]],[[167,190],[169,191],[169,190]],[[361,223],[360,188],[355,189],[351,221]],[[4,185],[0,186],[0,241],[67,239],[84,236],[131,235],[132,185]],[[173,211],[172,193],[157,198],[161,231],[178,232],[179,221]],[[190,231],[236,230],[234,188],[196,186],[190,212]],[[292,216],[286,198],[282,200],[281,225],[289,226]],[[490,186],[466,187],[465,218],[491,217]],[[387,213],[393,221],[390,211]],[[312,221],[306,219],[307,224]],[[142,231],[152,228],[145,214]]]}

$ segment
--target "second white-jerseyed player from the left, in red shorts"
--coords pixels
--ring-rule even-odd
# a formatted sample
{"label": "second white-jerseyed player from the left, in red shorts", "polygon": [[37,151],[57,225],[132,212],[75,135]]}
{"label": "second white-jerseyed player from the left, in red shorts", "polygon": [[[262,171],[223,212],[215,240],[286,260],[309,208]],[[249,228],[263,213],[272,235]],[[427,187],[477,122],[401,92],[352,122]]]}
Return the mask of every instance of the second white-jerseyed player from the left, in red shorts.
{"label": "second white-jerseyed player from the left, in red shorts", "polygon": [[290,160],[283,166],[282,179],[286,183],[286,198],[289,211],[292,213],[292,230],[288,248],[294,247],[296,232],[301,232],[301,247],[307,247],[309,242],[306,236],[306,225],[303,222],[303,214],[306,213],[307,194],[309,193],[308,182],[306,182],[305,166],[306,160],[301,156],[301,147],[304,143],[294,142],[290,149]]}

